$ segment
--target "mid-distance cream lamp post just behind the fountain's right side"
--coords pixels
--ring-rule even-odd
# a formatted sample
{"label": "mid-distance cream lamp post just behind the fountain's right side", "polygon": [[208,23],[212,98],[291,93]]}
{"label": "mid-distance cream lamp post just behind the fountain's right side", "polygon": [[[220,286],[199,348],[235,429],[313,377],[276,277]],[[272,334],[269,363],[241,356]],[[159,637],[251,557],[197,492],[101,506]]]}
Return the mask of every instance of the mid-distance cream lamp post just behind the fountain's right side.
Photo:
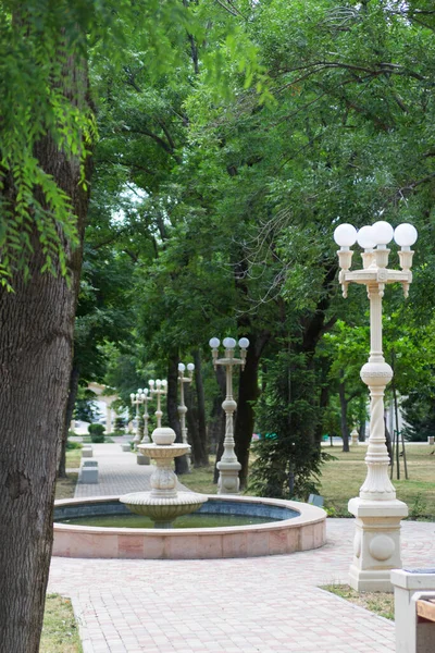
{"label": "mid-distance cream lamp post just behind the fountain's right side", "polygon": [[219,345],[221,344],[217,337],[212,337],[209,345],[212,349],[214,369],[217,365],[225,367],[226,371],[226,397],[222,403],[222,408],[225,410],[226,424],[225,424],[225,440],[224,440],[224,453],[216,467],[219,469],[219,482],[217,482],[217,494],[237,494],[239,491],[240,482],[238,472],[241,469],[240,463],[237,460],[234,452],[234,427],[233,416],[237,408],[237,404],[233,397],[233,366],[239,365],[241,369],[245,368],[246,361],[246,349],[249,347],[249,341],[247,337],[241,337],[238,341],[240,347],[240,358],[234,358],[234,349],[236,347],[236,341],[234,337],[226,337],[223,342],[225,347],[224,358],[219,358]]}

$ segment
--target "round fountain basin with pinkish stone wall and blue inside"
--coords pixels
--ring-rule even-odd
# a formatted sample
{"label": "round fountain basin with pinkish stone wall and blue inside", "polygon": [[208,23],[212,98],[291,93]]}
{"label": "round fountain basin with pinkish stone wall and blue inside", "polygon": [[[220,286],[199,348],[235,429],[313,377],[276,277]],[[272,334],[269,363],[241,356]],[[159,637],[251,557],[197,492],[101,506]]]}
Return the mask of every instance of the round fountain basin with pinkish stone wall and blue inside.
{"label": "round fountain basin with pinkish stone wall and blue inside", "polygon": [[[326,541],[326,513],[310,504],[252,496],[208,495],[199,513],[270,517],[266,523],[217,528],[107,528],[61,519],[127,512],[119,496],[54,504],[53,555],[85,558],[225,558],[307,551]],[[274,521],[272,521],[274,519]]]}

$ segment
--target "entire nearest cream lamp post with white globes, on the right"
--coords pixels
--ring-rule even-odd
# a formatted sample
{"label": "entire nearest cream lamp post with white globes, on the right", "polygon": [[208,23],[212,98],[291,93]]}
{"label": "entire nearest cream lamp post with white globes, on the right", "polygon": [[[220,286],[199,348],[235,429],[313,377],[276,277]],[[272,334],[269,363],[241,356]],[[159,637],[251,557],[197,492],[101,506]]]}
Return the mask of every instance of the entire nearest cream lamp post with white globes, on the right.
{"label": "entire nearest cream lamp post with white globes, on the right", "polygon": [[[393,239],[401,247],[401,270],[389,270],[387,244]],[[349,501],[348,509],[356,516],[353,560],[350,566],[350,584],[360,591],[390,590],[389,570],[401,567],[400,520],[408,515],[408,507],[396,498],[396,491],[388,478],[389,458],[385,444],[384,391],[393,379],[393,370],[385,362],[382,350],[382,297],[385,284],[401,283],[408,296],[412,281],[413,251],[417,230],[411,224],[400,224],[396,231],[387,222],[380,221],[363,226],[357,234],[351,224],[340,224],[334,232],[340,246],[338,251],[339,282],[344,297],[349,283],[366,286],[370,300],[370,357],[361,368],[361,379],[370,389],[370,439],[365,456],[368,475],[360,495]],[[363,267],[350,271],[355,242],[364,249]]]}

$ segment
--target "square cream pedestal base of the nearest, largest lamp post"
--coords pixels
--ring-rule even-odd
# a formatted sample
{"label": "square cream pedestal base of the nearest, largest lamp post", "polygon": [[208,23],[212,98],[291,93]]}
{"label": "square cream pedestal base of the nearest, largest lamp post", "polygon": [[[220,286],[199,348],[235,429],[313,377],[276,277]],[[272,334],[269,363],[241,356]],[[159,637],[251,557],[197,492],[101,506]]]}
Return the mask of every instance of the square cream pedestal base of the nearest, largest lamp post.
{"label": "square cream pedestal base of the nearest, largest lamp post", "polygon": [[388,592],[391,569],[401,568],[400,521],[407,505],[390,501],[351,498],[348,510],[356,517],[353,559],[349,584],[358,592]]}

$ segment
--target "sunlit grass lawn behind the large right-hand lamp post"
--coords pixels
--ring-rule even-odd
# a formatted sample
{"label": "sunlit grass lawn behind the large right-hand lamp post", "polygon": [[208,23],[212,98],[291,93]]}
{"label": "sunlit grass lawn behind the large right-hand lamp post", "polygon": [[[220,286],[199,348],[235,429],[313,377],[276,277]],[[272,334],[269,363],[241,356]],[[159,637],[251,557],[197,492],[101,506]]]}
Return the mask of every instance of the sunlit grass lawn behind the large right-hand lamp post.
{"label": "sunlit grass lawn behind the large right-hand lamp post", "polygon": [[[366,467],[364,456],[366,446],[353,446],[347,454],[340,447],[324,447],[337,460],[326,463],[322,468],[320,494],[325,497],[325,507],[330,515],[348,517],[347,503],[358,496]],[[397,498],[405,501],[411,519],[435,519],[435,455],[427,444],[407,447],[409,480],[405,480],[402,459],[400,459],[400,480],[393,478]],[[396,469],[395,469],[396,477]]]}

